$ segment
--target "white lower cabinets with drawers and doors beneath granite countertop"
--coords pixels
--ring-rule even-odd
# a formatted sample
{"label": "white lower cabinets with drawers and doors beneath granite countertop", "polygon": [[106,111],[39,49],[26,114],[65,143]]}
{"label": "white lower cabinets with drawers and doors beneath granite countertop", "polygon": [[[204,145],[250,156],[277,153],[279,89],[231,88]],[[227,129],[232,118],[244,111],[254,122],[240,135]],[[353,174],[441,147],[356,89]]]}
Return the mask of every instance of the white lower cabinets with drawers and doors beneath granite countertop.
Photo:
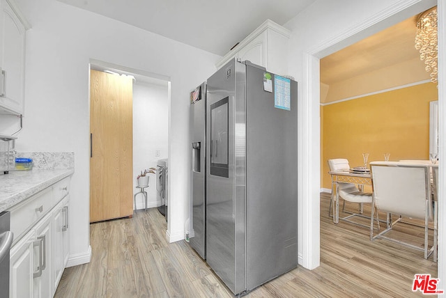
{"label": "white lower cabinets with drawers and doors beneath granite countertop", "polygon": [[[70,253],[69,182],[69,178],[62,180],[29,198],[28,203],[22,203],[10,210],[11,224],[15,225],[11,226],[11,230],[15,230],[14,237],[18,240],[14,240],[10,250],[11,298],[54,296]],[[64,192],[58,189],[63,189]],[[29,218],[29,212],[26,210],[31,209],[39,214],[41,210],[45,210],[45,207],[40,206],[48,200],[48,196],[52,198],[54,207],[41,214],[34,221],[35,224],[20,226],[18,223]]]}

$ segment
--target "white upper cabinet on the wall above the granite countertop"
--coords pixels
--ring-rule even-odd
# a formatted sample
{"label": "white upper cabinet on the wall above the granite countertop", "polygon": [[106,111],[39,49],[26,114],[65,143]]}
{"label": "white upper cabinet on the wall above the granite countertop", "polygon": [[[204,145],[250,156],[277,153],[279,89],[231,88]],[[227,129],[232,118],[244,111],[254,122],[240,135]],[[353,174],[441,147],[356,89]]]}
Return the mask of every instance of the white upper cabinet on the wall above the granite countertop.
{"label": "white upper cabinet on the wall above the granite countertop", "polygon": [[29,29],[13,0],[0,0],[0,113],[23,114],[25,31]]}

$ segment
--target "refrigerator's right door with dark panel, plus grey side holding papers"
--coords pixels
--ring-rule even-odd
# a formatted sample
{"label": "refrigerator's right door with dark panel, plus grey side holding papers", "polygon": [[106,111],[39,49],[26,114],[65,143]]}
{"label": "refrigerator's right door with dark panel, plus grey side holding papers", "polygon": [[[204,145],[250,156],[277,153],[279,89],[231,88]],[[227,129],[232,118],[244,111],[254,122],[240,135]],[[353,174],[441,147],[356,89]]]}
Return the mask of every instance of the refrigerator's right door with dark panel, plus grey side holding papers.
{"label": "refrigerator's right door with dark panel, plus grey side holding papers", "polygon": [[238,295],[298,265],[298,84],[235,60],[206,83],[206,261]]}

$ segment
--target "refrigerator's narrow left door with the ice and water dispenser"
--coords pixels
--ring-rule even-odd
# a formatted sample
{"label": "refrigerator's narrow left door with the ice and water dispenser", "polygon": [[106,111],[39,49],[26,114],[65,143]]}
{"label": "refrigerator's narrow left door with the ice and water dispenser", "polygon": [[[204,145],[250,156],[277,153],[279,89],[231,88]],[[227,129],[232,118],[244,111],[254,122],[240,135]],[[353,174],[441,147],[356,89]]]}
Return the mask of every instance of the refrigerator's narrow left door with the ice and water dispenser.
{"label": "refrigerator's narrow left door with the ice and water dispenser", "polygon": [[206,83],[190,93],[190,245],[206,259]]}

